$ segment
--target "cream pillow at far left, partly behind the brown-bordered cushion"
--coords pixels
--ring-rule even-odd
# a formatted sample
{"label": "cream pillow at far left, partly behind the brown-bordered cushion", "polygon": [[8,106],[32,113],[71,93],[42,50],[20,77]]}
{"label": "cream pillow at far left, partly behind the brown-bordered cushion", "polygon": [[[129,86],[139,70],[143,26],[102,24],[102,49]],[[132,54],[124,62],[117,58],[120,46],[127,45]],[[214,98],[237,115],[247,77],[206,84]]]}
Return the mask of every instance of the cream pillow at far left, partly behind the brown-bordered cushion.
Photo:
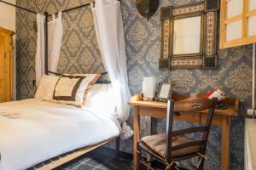
{"label": "cream pillow at far left, partly behind the brown-bordered cushion", "polygon": [[44,75],[38,86],[37,93],[35,94],[35,99],[41,99],[44,101],[49,101],[52,99],[56,82],[58,82],[59,77]]}

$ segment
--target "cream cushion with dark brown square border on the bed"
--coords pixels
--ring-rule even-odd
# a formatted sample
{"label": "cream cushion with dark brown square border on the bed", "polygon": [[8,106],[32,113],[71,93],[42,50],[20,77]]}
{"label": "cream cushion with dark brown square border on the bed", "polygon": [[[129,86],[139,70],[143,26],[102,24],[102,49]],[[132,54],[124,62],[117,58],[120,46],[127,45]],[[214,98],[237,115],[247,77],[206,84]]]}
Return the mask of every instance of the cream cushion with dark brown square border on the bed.
{"label": "cream cushion with dark brown square border on the bed", "polygon": [[83,105],[86,95],[98,77],[100,77],[99,74],[62,75],[55,85],[52,101],[69,105]]}

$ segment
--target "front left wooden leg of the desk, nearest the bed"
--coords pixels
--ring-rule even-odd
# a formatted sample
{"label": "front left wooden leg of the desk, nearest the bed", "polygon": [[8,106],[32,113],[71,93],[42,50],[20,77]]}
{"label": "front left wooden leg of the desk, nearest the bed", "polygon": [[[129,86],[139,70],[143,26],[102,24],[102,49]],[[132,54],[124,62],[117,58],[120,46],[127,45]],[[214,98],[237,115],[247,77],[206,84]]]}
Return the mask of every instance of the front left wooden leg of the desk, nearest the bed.
{"label": "front left wooden leg of the desk, nearest the bed", "polygon": [[139,160],[137,159],[137,142],[140,139],[140,116],[139,116],[139,107],[134,107],[133,113],[133,169],[139,170]]}

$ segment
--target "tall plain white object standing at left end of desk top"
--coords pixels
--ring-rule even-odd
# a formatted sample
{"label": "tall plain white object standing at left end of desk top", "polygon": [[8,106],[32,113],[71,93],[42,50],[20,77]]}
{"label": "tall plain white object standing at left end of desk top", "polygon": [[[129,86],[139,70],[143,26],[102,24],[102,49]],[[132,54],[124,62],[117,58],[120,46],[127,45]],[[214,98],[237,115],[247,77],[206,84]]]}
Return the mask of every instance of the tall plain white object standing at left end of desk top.
{"label": "tall plain white object standing at left end of desk top", "polygon": [[143,77],[143,99],[153,99],[156,88],[155,77]]}

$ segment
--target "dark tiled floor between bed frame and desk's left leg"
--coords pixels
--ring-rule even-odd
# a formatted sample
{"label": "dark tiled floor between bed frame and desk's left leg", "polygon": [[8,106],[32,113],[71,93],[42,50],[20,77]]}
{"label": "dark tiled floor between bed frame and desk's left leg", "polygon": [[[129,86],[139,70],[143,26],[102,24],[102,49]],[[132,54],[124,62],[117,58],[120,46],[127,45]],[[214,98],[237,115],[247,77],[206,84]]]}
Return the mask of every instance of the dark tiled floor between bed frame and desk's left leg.
{"label": "dark tiled floor between bed frame and desk's left leg", "polygon": [[79,159],[63,165],[58,170],[131,170],[131,156],[115,156],[115,150],[102,147]]}

